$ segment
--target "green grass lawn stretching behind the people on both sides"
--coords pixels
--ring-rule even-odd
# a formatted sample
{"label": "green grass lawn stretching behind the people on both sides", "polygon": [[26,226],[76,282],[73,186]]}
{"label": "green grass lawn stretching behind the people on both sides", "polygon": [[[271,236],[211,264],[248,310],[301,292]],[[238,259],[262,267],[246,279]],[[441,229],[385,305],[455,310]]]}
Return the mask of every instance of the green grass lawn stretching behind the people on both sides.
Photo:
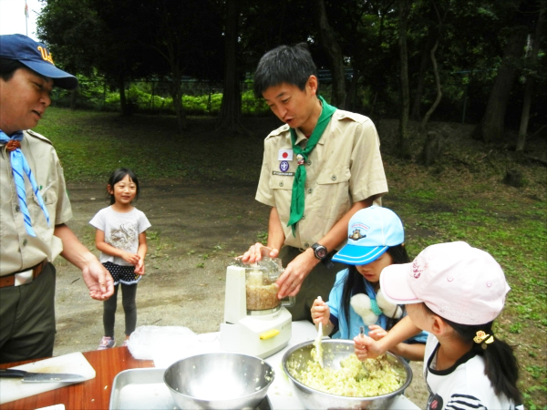
{"label": "green grass lawn stretching behind the people on both sides", "polygon": [[[106,184],[120,166],[139,179],[177,179],[255,186],[263,138],[273,118],[244,118],[247,136],[215,132],[213,118],[190,118],[184,135],[172,117],[134,116],[50,108],[37,132],[50,138],[68,183]],[[496,321],[497,337],[515,346],[520,387],[527,408],[547,408],[547,170],[516,159],[507,144],[470,138],[472,126],[433,123],[449,139],[437,165],[423,167],[397,159],[397,121],[377,121],[389,193],[384,205],[405,224],[411,257],[443,241],[467,241],[501,263],[511,285],[505,310]],[[412,152],[422,138],[411,132]],[[545,152],[544,138],[530,141],[533,154]],[[502,183],[507,169],[518,169],[524,186]],[[265,227],[264,227],[265,229]],[[250,239],[251,241],[252,239]]]}

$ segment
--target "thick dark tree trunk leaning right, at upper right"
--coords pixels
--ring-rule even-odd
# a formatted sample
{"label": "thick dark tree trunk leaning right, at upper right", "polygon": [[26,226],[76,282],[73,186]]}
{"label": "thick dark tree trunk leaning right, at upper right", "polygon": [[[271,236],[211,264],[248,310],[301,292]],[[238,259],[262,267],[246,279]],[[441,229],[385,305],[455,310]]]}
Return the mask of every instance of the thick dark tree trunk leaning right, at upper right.
{"label": "thick dark tree trunk leaning right, at upper right", "polygon": [[514,60],[521,57],[525,40],[526,32],[515,27],[503,52],[503,60],[490,92],[486,112],[473,131],[473,138],[490,142],[503,135],[505,111],[517,73]]}

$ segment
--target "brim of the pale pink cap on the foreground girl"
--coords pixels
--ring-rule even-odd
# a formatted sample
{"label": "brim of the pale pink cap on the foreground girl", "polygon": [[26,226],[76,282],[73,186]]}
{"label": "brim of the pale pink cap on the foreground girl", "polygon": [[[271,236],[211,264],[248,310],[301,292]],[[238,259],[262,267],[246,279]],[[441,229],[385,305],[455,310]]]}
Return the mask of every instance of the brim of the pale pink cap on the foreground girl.
{"label": "brim of the pale pink cap on the foreground girl", "polygon": [[408,284],[408,269],[412,263],[389,265],[380,273],[380,289],[387,302],[395,304],[419,303]]}

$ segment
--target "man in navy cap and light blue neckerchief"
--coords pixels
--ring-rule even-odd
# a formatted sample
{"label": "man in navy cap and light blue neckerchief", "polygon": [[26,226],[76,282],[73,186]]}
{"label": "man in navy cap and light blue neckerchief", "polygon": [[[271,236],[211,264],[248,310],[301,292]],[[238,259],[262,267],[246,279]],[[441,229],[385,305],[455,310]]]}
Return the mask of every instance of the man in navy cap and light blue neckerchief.
{"label": "man in navy cap and light blue neckerchief", "polygon": [[56,150],[30,128],[53,87],[77,78],[55,67],[47,47],[0,36],[0,363],[53,354],[55,267],[60,254],[83,273],[93,299],[114,292],[97,257],[67,227],[72,217]]}

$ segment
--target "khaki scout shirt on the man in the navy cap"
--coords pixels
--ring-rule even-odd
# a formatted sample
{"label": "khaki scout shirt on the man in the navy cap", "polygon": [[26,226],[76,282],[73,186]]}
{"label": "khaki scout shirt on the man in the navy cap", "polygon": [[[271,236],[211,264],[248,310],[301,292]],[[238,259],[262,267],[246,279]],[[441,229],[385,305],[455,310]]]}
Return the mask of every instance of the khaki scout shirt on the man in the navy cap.
{"label": "khaki scout shirt on the man in the navy cap", "polygon": [[40,194],[49,212],[50,226],[25,177],[26,205],[36,232],[28,235],[19,210],[9,153],[0,146],[0,276],[23,271],[47,259],[54,261],[63,251],[60,239],[53,235],[55,225],[72,218],[63,169],[51,142],[33,131],[25,131],[21,150],[36,178]]}

